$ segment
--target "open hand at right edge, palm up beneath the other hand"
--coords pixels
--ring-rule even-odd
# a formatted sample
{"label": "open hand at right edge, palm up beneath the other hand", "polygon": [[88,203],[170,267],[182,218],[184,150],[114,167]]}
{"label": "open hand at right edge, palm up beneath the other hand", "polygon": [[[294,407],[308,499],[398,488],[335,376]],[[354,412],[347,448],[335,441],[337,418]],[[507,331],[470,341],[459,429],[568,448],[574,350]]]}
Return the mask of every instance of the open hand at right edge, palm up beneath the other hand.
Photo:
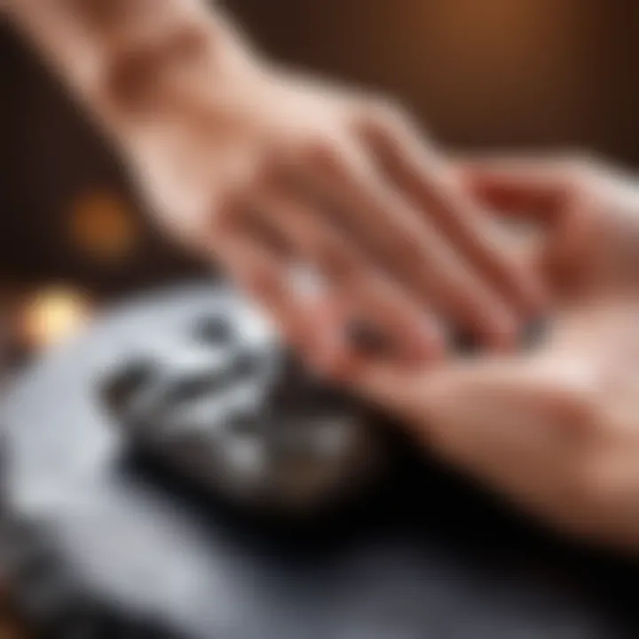
{"label": "open hand at right edge, palm up beneath the other hand", "polygon": [[469,189],[542,226],[548,337],[514,356],[356,383],[422,442],[564,532],[639,548],[639,197],[590,164],[478,162]]}

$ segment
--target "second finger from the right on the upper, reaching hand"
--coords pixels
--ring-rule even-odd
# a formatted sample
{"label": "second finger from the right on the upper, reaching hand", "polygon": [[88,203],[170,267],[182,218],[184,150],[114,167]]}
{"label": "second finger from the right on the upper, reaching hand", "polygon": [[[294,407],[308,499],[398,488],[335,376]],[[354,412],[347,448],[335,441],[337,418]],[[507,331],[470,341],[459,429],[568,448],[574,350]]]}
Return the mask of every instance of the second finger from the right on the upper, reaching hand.
{"label": "second finger from the right on the upper, reaching hand", "polygon": [[357,146],[344,146],[330,164],[312,166],[307,176],[323,188],[351,224],[351,237],[411,296],[428,304],[479,343],[511,347],[517,316],[438,229],[381,183]]}

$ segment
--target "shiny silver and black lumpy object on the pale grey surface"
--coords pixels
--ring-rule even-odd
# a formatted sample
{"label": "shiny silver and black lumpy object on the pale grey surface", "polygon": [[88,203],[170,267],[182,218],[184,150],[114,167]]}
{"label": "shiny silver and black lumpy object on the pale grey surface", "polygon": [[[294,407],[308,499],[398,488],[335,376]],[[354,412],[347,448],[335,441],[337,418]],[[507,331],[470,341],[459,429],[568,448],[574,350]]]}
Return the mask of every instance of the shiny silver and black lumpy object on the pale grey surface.
{"label": "shiny silver and black lumpy object on the pale grey surface", "polygon": [[231,292],[173,339],[139,343],[101,400],[139,452],[271,515],[307,516],[383,469],[363,406],[314,380]]}

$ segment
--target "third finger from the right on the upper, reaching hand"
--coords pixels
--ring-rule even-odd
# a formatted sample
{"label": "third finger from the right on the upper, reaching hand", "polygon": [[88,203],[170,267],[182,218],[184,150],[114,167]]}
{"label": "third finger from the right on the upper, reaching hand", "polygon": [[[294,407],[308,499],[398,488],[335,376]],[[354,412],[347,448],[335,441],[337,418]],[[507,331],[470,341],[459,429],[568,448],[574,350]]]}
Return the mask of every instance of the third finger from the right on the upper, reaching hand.
{"label": "third finger from the right on the upper, reaching hand", "polygon": [[409,360],[439,357],[442,335],[433,314],[424,310],[369,264],[366,256],[326,217],[295,196],[263,193],[251,207],[256,215],[277,230],[300,260],[309,260],[326,280],[330,296],[354,317],[366,318],[380,327]]}

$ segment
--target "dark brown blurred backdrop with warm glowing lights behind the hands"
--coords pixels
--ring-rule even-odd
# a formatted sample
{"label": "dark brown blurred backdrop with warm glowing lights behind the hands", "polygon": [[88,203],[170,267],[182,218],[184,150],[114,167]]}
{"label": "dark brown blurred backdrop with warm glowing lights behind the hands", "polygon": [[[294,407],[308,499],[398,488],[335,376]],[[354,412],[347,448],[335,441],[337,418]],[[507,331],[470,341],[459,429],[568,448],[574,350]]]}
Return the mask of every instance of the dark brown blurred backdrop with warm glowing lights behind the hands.
{"label": "dark brown blurred backdrop with warm glowing lights behind the hands", "polygon": [[[397,94],[455,151],[577,148],[639,162],[639,4],[224,4],[265,51]],[[5,24],[0,87],[0,291],[20,357],[106,300],[202,272],[147,224],[106,140]]]}

